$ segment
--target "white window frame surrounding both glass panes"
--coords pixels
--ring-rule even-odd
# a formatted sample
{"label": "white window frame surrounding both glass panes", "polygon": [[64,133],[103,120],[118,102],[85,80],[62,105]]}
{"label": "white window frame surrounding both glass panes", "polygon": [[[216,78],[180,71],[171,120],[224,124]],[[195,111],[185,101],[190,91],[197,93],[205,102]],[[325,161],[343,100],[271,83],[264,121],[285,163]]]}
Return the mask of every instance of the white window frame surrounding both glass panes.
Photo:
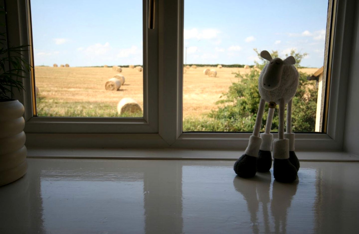
{"label": "white window frame surrounding both glass panes", "polygon": [[[12,2],[6,0],[6,2]],[[16,0],[19,18],[18,37],[28,41],[26,1]],[[148,2],[143,1],[144,19],[147,19]],[[338,0],[335,14],[334,47],[330,82],[330,99],[327,132],[297,133],[296,150],[342,150],[345,94],[348,86],[351,43],[355,3]],[[157,0],[154,31],[145,29],[144,39],[157,41],[144,43],[144,57],[149,54],[147,67],[155,67],[147,74],[144,83],[143,121],[137,118],[47,118],[32,117],[32,95],[24,92],[17,97],[25,106],[27,145],[30,147],[94,147],[94,148],[193,148],[230,149],[246,148],[250,133],[183,133],[183,0]],[[16,17],[14,17],[16,18]],[[15,22],[16,24],[16,22]],[[12,22],[11,25],[14,25]],[[146,24],[144,23],[145,28]],[[13,33],[16,36],[16,32]],[[148,35],[151,34],[151,37]],[[145,41],[144,41],[145,42]],[[22,43],[22,44],[24,44]],[[144,59],[144,62],[146,60]],[[145,63],[144,63],[145,64]],[[144,66],[145,67],[145,66]],[[157,80],[158,77],[158,80]],[[31,83],[25,82],[27,90]],[[146,97],[146,98],[145,98]],[[155,97],[151,99],[150,97]],[[80,124],[80,130],[71,130]],[[93,128],[95,126],[95,128]],[[148,128],[143,126],[148,126]],[[115,130],[114,130],[115,129]],[[219,156],[220,157],[220,156]]]}

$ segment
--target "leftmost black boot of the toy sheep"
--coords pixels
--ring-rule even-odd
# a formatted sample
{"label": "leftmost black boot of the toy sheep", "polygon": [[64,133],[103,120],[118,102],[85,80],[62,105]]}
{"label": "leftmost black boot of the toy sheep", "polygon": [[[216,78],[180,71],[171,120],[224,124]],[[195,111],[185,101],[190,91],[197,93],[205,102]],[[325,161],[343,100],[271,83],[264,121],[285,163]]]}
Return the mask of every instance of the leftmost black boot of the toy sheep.
{"label": "leftmost black boot of the toy sheep", "polygon": [[256,175],[257,172],[257,158],[243,154],[233,166],[236,174],[243,178],[249,178]]}

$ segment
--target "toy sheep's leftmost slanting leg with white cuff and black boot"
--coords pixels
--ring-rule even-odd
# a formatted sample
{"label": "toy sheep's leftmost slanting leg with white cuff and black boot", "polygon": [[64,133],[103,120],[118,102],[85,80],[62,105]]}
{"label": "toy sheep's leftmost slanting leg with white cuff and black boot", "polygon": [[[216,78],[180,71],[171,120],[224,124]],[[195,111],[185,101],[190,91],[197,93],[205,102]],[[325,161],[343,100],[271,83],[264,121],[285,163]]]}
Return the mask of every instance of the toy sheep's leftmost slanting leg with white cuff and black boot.
{"label": "toy sheep's leftmost slanting leg with white cuff and black boot", "polygon": [[263,119],[264,105],[265,101],[261,99],[259,102],[253,134],[249,139],[247,149],[244,154],[234,163],[233,169],[240,177],[248,178],[256,175],[257,156],[262,143],[262,138],[259,137],[259,131]]}

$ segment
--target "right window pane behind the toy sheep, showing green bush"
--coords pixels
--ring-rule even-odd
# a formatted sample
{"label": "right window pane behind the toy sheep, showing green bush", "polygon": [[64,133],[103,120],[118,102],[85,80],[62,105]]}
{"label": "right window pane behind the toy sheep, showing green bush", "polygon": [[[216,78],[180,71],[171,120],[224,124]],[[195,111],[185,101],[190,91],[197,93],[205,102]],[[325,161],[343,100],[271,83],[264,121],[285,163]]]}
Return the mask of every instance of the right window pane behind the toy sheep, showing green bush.
{"label": "right window pane behind the toy sheep, showing green bush", "polygon": [[[259,53],[267,50],[297,60],[293,131],[319,132],[327,9],[328,0],[185,1],[183,131],[252,132],[266,64]],[[266,105],[261,131],[267,112]]]}

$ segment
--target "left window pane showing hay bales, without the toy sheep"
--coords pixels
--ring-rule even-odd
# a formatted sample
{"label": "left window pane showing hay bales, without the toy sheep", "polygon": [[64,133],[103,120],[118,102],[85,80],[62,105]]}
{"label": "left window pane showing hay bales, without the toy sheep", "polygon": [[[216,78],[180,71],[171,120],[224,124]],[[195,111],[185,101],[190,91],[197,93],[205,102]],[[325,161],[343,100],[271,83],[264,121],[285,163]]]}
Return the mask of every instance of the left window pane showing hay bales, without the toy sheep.
{"label": "left window pane showing hay bales, without the toy sheep", "polygon": [[143,116],[142,1],[31,1],[37,116]]}

